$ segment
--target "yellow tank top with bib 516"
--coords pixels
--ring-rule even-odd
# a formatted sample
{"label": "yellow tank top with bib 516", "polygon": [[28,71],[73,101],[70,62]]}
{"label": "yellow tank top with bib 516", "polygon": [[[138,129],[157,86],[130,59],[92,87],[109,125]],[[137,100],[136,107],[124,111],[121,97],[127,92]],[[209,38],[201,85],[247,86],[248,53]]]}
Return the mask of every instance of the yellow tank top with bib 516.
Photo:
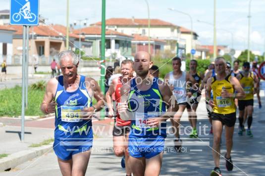
{"label": "yellow tank top with bib 516", "polygon": [[216,76],[212,77],[212,91],[213,91],[213,112],[217,114],[231,114],[236,112],[235,101],[233,97],[222,98],[221,91],[225,88],[227,92],[234,93],[234,88],[230,83],[231,75],[227,75],[224,80],[216,80]]}

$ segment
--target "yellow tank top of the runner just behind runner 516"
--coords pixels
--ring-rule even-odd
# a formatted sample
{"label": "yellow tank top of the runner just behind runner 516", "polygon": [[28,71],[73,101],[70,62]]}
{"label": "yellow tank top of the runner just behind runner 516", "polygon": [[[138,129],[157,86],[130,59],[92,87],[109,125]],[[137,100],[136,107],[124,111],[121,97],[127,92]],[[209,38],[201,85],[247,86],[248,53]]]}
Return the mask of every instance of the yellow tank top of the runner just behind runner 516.
{"label": "yellow tank top of the runner just behind runner 516", "polygon": [[242,88],[245,91],[246,98],[241,100],[250,100],[254,98],[253,90],[254,90],[254,74],[253,72],[250,72],[250,75],[248,77],[245,77],[241,72],[241,80],[239,80]]}

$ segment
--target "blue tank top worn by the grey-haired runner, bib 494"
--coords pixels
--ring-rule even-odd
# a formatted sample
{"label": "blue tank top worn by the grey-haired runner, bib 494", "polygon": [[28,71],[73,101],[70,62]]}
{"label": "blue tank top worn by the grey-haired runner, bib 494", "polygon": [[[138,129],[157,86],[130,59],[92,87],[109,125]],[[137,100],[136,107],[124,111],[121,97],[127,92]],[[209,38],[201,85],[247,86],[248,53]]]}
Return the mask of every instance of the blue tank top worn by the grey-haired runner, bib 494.
{"label": "blue tank top worn by the grey-haired runner, bib 494", "polygon": [[92,106],[85,76],[80,75],[79,87],[68,92],[63,87],[63,76],[58,77],[58,86],[55,93],[55,130],[54,138],[93,138],[91,120],[83,120],[79,112],[85,107]]}

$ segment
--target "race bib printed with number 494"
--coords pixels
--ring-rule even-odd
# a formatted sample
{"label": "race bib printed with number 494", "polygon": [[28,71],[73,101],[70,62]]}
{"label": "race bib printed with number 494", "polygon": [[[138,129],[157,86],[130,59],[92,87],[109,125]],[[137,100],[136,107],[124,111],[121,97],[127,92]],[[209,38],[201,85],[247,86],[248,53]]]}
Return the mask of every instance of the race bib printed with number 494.
{"label": "race bib printed with number 494", "polygon": [[82,122],[80,118],[84,106],[61,106],[61,121],[63,122]]}

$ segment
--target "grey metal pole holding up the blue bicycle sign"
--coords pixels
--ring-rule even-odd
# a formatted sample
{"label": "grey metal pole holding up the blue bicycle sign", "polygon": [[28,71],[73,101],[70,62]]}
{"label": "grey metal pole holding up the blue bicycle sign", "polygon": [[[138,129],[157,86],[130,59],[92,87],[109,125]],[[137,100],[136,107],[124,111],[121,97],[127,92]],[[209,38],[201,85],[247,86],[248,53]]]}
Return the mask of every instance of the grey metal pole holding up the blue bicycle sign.
{"label": "grey metal pole holding up the blue bicycle sign", "polygon": [[22,104],[21,104],[21,141],[24,142],[25,118],[25,76],[26,76],[26,26],[23,26],[23,57],[22,57]]}

